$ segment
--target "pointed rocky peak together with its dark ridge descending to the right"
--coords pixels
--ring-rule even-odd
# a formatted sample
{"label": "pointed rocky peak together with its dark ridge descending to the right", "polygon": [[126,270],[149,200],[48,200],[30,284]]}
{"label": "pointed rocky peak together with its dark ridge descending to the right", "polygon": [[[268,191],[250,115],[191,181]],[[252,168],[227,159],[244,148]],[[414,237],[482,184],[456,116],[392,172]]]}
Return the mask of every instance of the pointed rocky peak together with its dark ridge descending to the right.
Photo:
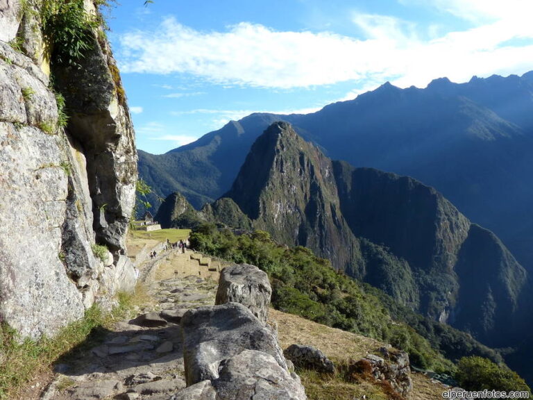
{"label": "pointed rocky peak together with its dark ridge descending to the right", "polygon": [[412,178],[331,161],[289,124],[258,138],[226,197],[276,240],[487,344],[523,315],[527,273],[496,235]]}

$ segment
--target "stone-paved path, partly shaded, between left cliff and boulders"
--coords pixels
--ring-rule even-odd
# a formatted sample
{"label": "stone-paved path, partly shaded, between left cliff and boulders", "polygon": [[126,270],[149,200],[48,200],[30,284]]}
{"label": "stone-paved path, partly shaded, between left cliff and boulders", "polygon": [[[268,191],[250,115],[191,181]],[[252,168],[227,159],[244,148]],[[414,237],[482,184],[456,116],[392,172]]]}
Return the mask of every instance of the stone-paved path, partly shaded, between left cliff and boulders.
{"label": "stone-paved path, partly shaded, between left cliff and boulders", "polygon": [[178,249],[146,260],[140,269],[148,304],[135,319],[117,322],[99,346],[56,365],[42,399],[169,400],[185,387],[180,317],[189,308],[214,304],[220,265],[213,265]]}

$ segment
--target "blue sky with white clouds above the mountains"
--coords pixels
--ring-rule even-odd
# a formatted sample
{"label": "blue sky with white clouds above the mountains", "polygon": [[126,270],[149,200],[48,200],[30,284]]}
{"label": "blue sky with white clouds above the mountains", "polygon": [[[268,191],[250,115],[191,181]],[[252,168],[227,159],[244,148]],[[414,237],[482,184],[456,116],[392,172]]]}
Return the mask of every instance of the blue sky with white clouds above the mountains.
{"label": "blue sky with white clouds above the mountains", "polygon": [[119,0],[105,14],[137,147],[156,154],[387,81],[533,69],[533,0]]}

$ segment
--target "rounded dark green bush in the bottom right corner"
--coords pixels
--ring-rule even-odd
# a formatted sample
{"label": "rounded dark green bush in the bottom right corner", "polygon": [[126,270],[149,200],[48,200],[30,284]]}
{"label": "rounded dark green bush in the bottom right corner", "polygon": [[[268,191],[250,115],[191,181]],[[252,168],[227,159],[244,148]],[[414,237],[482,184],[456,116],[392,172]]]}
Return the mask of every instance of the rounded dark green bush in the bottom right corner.
{"label": "rounded dark green bush in the bottom right corner", "polygon": [[465,390],[531,392],[530,387],[516,372],[482,357],[464,357],[459,360],[455,377]]}

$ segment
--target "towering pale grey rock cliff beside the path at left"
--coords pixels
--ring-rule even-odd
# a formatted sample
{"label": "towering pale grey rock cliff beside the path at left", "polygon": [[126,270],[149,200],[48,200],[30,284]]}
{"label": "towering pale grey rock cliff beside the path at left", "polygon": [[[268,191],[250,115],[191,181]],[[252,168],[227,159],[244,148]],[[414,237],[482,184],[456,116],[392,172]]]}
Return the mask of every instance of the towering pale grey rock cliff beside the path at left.
{"label": "towering pale grey rock cliff beside the path at left", "polygon": [[135,284],[137,152],[115,60],[93,28],[77,65],[57,63],[42,7],[0,1],[0,321],[32,338]]}

